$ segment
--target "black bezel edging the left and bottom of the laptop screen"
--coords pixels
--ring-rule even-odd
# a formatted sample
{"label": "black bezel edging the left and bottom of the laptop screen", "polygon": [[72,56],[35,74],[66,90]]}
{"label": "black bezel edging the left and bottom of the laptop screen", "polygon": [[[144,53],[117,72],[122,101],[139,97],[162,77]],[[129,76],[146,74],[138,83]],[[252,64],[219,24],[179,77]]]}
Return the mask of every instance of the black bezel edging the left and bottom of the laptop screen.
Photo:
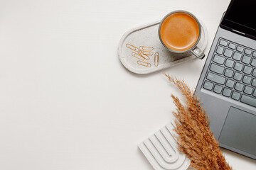
{"label": "black bezel edging the left and bottom of the laptop screen", "polygon": [[227,11],[223,17],[223,20],[220,23],[220,27],[226,30],[234,31],[235,33],[239,33],[240,35],[244,35],[245,37],[252,38],[256,40],[256,30],[249,28],[247,26],[243,26],[242,24],[235,23],[227,19],[228,13],[230,12],[234,1],[238,0],[231,0],[228,6]]}

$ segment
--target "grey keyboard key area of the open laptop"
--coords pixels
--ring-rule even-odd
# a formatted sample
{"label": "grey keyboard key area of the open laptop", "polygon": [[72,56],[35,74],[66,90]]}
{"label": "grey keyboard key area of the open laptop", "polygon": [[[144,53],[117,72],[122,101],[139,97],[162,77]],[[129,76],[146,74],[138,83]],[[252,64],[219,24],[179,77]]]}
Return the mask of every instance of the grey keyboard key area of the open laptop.
{"label": "grey keyboard key area of the open laptop", "polygon": [[203,89],[256,107],[256,50],[220,38]]}

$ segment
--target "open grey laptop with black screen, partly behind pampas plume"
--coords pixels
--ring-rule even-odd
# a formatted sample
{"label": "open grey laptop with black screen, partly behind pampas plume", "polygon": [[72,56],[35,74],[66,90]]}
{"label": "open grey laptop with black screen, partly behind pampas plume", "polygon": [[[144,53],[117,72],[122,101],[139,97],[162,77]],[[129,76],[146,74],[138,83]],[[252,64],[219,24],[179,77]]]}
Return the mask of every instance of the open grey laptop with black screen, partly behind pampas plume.
{"label": "open grey laptop with black screen, partly behind pampas plume", "polygon": [[231,0],[195,94],[220,147],[256,159],[256,1]]}

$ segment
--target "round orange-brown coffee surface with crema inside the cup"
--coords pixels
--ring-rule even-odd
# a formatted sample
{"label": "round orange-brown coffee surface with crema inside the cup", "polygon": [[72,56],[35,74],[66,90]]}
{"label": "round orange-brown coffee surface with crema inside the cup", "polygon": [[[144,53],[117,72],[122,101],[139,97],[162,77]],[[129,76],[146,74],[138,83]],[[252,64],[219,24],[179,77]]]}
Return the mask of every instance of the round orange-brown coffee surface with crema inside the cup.
{"label": "round orange-brown coffee surface with crema inside the cup", "polygon": [[196,19],[188,13],[173,13],[161,23],[161,40],[171,50],[190,49],[196,44],[199,34],[200,28]]}

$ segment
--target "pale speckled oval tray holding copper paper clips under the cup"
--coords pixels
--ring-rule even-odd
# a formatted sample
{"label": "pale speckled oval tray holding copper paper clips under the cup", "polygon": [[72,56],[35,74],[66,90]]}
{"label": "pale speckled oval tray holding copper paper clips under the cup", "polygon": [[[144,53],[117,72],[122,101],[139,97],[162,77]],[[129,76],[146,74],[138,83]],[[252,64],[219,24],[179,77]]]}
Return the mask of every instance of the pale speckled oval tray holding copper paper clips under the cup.
{"label": "pale speckled oval tray holding copper paper clips under the cup", "polygon": [[[127,31],[122,36],[118,46],[119,60],[130,72],[149,74],[196,58],[194,55],[181,57],[178,54],[166,50],[159,40],[158,28],[160,22],[156,21],[139,26]],[[201,21],[200,23],[202,26],[201,30],[205,36],[198,43],[198,47],[201,47],[201,50],[205,50],[208,42],[208,34],[206,26]],[[142,51],[147,54],[146,56],[142,54],[144,58],[137,55],[137,53]]]}

